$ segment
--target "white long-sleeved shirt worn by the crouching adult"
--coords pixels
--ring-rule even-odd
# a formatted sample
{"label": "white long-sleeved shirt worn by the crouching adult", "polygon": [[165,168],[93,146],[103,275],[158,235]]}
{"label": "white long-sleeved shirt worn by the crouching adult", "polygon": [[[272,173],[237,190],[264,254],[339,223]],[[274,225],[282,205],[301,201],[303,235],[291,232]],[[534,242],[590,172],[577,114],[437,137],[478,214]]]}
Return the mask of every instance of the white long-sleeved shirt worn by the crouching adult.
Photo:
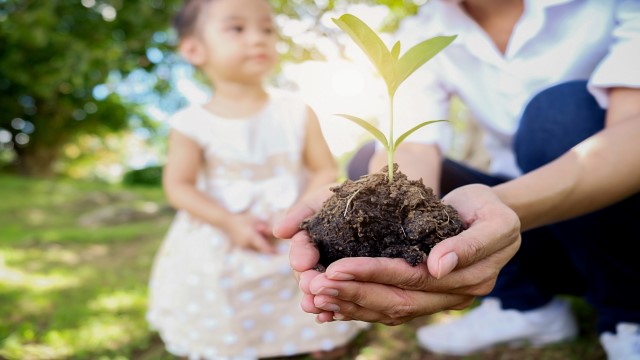
{"label": "white long-sleeved shirt worn by the crouching adult", "polygon": [[[521,112],[541,90],[589,80],[607,107],[607,88],[640,87],[640,0],[525,0],[504,54],[460,7],[433,0],[398,31],[403,52],[437,35],[457,35],[441,53],[400,85],[396,127],[447,119],[457,95],[485,131],[490,173],[518,176],[512,150]],[[429,125],[407,141],[437,143],[446,153],[448,123]]]}

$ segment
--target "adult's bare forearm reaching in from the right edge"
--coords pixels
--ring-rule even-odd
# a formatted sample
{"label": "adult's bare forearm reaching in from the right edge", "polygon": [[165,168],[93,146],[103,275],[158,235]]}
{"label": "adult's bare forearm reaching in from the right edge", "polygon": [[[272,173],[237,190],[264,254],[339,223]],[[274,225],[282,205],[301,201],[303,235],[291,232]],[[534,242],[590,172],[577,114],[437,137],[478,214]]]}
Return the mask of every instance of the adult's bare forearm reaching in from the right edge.
{"label": "adult's bare forearm reaching in from the right edge", "polygon": [[640,118],[629,119],[494,191],[523,230],[595,211],[640,191],[639,140]]}

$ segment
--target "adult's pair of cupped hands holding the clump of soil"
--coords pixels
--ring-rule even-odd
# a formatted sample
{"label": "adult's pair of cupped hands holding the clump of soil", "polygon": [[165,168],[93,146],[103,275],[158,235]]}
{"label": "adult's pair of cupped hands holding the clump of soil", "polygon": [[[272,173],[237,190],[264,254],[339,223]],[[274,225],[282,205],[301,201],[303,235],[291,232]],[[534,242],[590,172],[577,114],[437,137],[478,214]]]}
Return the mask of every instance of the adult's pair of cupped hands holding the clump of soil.
{"label": "adult's pair of cupped hands holding the clump of soil", "polygon": [[300,223],[331,195],[327,189],[297,204],[275,227],[291,238],[290,263],[304,296],[301,307],[318,322],[361,320],[398,325],[442,310],[463,309],[488,294],[498,272],[520,246],[517,215],[484,185],[467,185],[443,198],[466,230],[437,244],[416,267],[403,259],[344,258],[324,273],[319,253]]}

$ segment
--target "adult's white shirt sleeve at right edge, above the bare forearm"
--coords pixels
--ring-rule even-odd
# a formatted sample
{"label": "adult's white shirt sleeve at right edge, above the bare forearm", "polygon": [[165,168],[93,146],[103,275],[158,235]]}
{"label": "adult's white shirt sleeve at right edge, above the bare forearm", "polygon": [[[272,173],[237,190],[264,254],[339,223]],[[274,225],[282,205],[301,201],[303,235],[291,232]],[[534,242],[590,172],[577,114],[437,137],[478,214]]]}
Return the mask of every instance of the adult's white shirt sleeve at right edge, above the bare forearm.
{"label": "adult's white shirt sleeve at right edge, above the bare forearm", "polygon": [[589,91],[602,108],[608,107],[611,87],[640,88],[640,1],[619,2],[608,54],[589,79]]}

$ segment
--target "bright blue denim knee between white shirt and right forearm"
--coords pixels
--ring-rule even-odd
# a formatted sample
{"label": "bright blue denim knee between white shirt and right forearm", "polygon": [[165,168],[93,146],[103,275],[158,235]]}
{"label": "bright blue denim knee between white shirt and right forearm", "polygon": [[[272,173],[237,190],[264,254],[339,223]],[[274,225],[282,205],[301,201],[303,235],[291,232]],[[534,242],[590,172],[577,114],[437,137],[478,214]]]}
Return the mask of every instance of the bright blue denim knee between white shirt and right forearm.
{"label": "bright blue denim knee between white shirt and right forearm", "polygon": [[525,107],[514,137],[518,166],[526,173],[553,161],[602,130],[604,120],[585,80],[541,91]]}

